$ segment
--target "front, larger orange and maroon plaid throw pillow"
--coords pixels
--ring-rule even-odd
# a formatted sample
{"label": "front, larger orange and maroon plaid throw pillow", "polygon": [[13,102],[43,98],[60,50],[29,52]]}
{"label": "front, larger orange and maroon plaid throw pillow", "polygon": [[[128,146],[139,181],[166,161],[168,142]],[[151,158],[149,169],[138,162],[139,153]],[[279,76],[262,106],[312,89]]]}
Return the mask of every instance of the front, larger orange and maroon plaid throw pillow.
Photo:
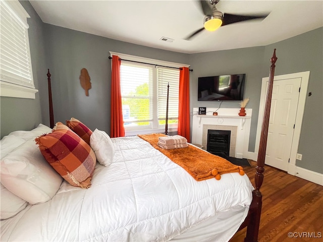
{"label": "front, larger orange and maroon plaid throw pillow", "polygon": [[89,188],[96,164],[91,147],[62,123],[35,139],[47,162],[75,187]]}

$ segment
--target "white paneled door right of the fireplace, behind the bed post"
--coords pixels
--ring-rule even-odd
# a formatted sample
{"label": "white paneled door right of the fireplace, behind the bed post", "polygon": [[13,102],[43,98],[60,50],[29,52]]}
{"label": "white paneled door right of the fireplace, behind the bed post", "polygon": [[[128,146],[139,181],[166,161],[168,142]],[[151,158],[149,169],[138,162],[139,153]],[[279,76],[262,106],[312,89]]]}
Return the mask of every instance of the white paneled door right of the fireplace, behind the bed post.
{"label": "white paneled door right of the fireplace, behind the bed post", "polygon": [[301,78],[275,80],[273,85],[265,164],[285,171],[291,155],[300,86]]}

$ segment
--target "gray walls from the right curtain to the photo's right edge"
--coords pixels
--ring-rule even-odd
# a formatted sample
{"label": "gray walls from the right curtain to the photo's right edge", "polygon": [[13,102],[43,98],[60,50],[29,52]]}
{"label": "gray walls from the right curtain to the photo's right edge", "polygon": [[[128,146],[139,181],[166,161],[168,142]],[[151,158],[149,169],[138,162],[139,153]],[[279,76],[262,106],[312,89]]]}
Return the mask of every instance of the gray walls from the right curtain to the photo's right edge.
{"label": "gray walls from the right curtain to the photo's right edge", "polygon": [[[254,152],[261,79],[269,76],[270,58],[274,48],[277,48],[278,57],[275,75],[310,71],[308,92],[312,92],[312,95],[306,98],[298,148],[298,153],[303,157],[301,161],[296,161],[296,165],[323,173],[323,28],[264,47],[191,54],[189,64],[194,69],[190,76],[191,109],[220,105],[219,101],[197,101],[198,77],[246,73],[245,97],[250,98],[247,108],[252,108],[248,150]],[[221,107],[239,107],[239,102],[225,101]]]}

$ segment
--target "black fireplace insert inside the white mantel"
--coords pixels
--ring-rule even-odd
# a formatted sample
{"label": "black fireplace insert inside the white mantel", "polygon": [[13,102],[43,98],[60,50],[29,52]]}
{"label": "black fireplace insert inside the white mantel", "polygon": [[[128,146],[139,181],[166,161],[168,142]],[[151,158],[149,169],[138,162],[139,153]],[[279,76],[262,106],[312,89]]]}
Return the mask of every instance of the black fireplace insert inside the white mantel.
{"label": "black fireplace insert inside the white mantel", "polygon": [[206,150],[223,158],[230,156],[230,130],[207,130]]}

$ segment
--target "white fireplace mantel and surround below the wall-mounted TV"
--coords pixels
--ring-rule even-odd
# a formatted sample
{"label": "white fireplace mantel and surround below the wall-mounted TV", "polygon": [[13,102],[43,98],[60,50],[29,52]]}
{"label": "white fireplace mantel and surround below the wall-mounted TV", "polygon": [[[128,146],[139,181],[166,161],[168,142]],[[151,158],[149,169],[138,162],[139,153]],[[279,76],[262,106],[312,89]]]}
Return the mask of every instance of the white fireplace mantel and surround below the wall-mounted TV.
{"label": "white fireplace mantel and surround below the wall-mounted TV", "polygon": [[[246,108],[245,116],[239,116],[239,110],[240,108],[206,108],[206,114],[199,115],[198,108],[193,108],[192,143],[199,145],[203,144],[203,135],[205,136],[203,126],[223,126],[225,129],[228,128],[228,126],[237,127],[234,155],[236,158],[246,158],[249,146],[252,109]],[[215,111],[218,112],[218,115],[213,115],[213,112]]]}

